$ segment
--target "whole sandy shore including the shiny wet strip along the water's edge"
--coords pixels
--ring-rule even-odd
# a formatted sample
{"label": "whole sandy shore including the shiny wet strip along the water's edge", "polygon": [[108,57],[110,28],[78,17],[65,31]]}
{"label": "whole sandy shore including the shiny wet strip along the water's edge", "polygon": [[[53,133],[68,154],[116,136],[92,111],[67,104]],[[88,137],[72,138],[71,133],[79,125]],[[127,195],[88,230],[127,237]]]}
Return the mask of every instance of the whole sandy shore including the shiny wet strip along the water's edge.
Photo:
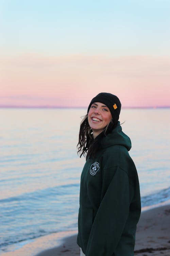
{"label": "whole sandy shore including the shiny wet strip along the water's edge", "polygon": [[[141,213],[136,231],[135,256],[170,255],[170,204]],[[1,256],[72,256],[80,255],[77,230],[37,238]]]}

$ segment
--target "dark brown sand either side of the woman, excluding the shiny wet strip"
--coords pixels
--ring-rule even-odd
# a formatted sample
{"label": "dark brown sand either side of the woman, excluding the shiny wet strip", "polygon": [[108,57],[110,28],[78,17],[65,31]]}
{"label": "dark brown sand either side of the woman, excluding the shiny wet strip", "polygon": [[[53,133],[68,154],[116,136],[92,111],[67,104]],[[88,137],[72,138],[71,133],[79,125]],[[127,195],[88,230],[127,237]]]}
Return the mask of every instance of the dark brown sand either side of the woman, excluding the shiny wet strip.
{"label": "dark brown sand either side of the woman, excluding the shiny wet strip", "polygon": [[[76,238],[76,235],[71,236],[63,241],[62,246],[41,252],[36,256],[80,255]],[[136,232],[135,255],[170,256],[170,205],[141,213]]]}

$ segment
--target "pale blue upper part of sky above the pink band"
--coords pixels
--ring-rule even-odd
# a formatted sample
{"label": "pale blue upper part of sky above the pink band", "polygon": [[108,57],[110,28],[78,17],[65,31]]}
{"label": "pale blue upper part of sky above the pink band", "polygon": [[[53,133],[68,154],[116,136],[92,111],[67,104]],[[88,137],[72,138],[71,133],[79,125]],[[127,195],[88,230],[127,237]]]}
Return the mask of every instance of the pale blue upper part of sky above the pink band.
{"label": "pale blue upper part of sky above the pink band", "polygon": [[170,55],[170,1],[1,0],[3,55]]}

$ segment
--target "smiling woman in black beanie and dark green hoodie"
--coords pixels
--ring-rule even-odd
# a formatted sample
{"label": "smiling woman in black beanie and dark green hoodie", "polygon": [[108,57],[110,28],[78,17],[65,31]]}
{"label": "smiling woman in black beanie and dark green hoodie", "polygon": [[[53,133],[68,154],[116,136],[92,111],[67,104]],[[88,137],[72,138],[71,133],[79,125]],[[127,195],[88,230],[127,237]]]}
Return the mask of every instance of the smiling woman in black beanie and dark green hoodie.
{"label": "smiling woman in black beanie and dark green hoodie", "polygon": [[81,255],[134,255],[141,204],[138,175],[122,132],[117,96],[99,93],[80,126],[81,174],[77,243]]}

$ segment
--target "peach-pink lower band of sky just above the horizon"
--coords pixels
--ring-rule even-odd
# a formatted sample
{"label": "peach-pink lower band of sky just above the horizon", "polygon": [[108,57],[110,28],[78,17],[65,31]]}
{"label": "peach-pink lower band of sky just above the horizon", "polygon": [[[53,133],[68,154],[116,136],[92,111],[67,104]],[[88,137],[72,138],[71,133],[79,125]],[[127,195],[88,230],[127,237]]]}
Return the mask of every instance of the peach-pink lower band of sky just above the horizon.
{"label": "peach-pink lower band of sky just above the horizon", "polygon": [[122,106],[169,106],[170,59],[151,56],[4,57],[0,105],[87,106],[100,92]]}

